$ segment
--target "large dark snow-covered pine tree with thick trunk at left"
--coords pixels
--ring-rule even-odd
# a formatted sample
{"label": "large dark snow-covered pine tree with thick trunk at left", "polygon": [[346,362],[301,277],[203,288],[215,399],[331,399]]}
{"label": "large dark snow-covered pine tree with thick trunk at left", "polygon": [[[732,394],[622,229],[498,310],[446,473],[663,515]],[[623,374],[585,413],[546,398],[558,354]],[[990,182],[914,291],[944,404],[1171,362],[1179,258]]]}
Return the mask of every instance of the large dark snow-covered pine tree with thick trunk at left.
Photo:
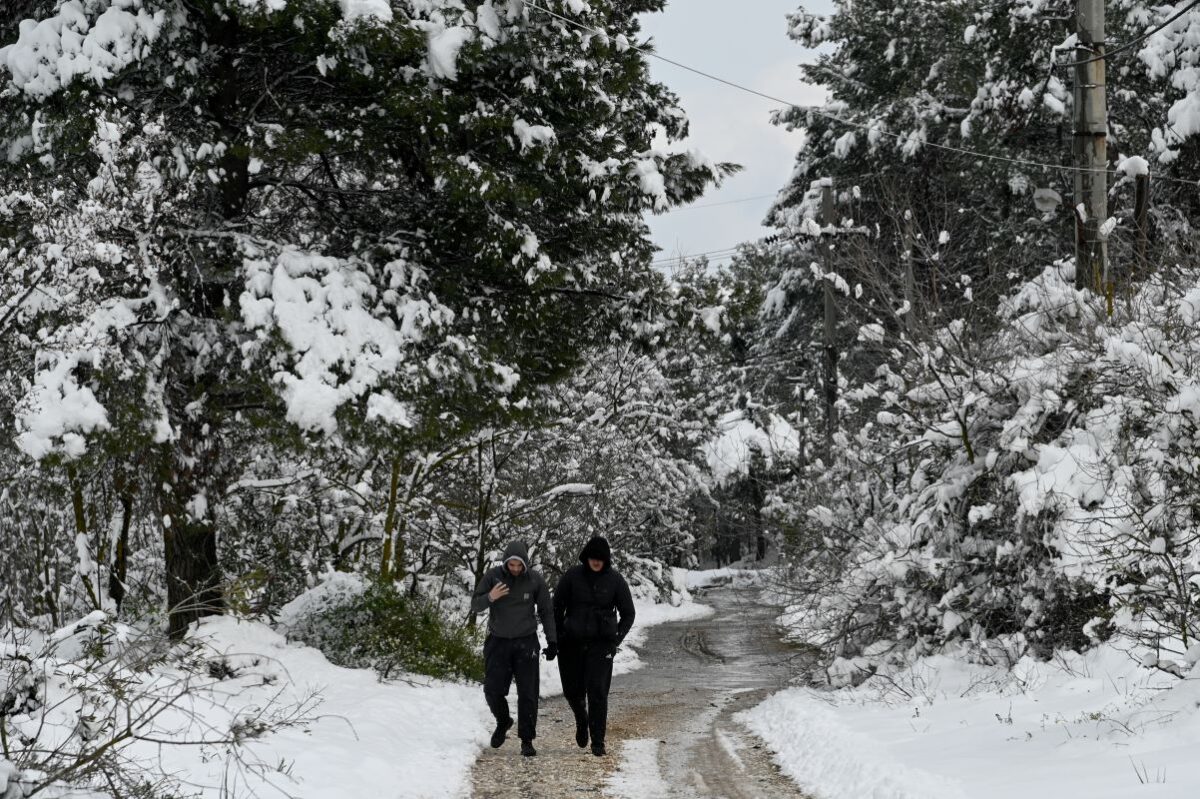
{"label": "large dark snow-covered pine tree with thick trunk at left", "polygon": [[602,32],[521,0],[6,17],[17,440],[149,475],[173,633],[221,605],[242,437],[371,423],[403,446],[503,415],[636,314],[641,214],[720,175],[650,148],[685,130],[626,47],[659,0],[548,5]]}

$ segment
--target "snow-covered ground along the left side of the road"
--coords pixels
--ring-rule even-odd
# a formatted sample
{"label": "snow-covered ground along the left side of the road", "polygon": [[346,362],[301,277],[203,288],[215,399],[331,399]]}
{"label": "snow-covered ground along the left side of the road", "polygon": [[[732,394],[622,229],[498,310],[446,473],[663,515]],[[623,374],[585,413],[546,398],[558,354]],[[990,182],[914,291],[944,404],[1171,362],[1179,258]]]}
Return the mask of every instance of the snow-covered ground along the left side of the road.
{"label": "snow-covered ground along the left side of the road", "polygon": [[[641,665],[635,648],[650,626],[710,612],[685,593],[678,599],[678,606],[635,600],[637,621],[617,654],[617,673]],[[228,683],[221,715],[245,716],[269,701],[282,708],[319,696],[311,723],[248,745],[248,755],[266,768],[260,774],[233,769],[241,787],[254,787],[264,798],[445,799],[466,793],[470,767],[492,727],[479,685],[412,677],[380,681],[371,671],[334,666],[318,650],[257,621],[211,619],[199,638],[238,673]],[[541,693],[559,692],[557,665],[544,660]],[[515,713],[515,690],[509,699]],[[227,764],[211,750],[164,749],[162,757],[168,770],[204,786],[203,795],[224,795],[220,786],[229,780]]]}

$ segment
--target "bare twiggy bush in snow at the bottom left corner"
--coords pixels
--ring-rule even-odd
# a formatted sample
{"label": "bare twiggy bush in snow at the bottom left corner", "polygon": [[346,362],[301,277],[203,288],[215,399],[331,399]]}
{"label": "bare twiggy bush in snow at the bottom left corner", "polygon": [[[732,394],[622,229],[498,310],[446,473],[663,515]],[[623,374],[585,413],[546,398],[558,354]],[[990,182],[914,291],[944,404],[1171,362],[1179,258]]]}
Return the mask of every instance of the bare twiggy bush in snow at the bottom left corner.
{"label": "bare twiggy bush in snow at the bottom left corner", "polygon": [[179,797],[180,751],[274,768],[246,741],[306,725],[312,704],[244,697],[277,679],[254,673],[262,661],[175,644],[103,611],[52,632],[4,627],[0,797]]}

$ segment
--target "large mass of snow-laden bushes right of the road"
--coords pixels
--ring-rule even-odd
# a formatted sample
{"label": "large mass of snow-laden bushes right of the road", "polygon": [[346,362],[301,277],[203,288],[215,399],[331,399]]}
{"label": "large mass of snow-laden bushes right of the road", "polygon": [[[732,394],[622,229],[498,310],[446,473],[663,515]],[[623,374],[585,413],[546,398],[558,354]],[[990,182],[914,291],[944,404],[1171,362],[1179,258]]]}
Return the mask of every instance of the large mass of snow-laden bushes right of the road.
{"label": "large mass of snow-laden bushes right of the road", "polygon": [[851,388],[857,426],[823,480],[773,509],[803,530],[790,623],[845,657],[835,675],[950,642],[1004,661],[1114,632],[1164,668],[1196,660],[1198,284],[1150,280],[1108,318],[1056,264],[994,334],[952,323]]}

